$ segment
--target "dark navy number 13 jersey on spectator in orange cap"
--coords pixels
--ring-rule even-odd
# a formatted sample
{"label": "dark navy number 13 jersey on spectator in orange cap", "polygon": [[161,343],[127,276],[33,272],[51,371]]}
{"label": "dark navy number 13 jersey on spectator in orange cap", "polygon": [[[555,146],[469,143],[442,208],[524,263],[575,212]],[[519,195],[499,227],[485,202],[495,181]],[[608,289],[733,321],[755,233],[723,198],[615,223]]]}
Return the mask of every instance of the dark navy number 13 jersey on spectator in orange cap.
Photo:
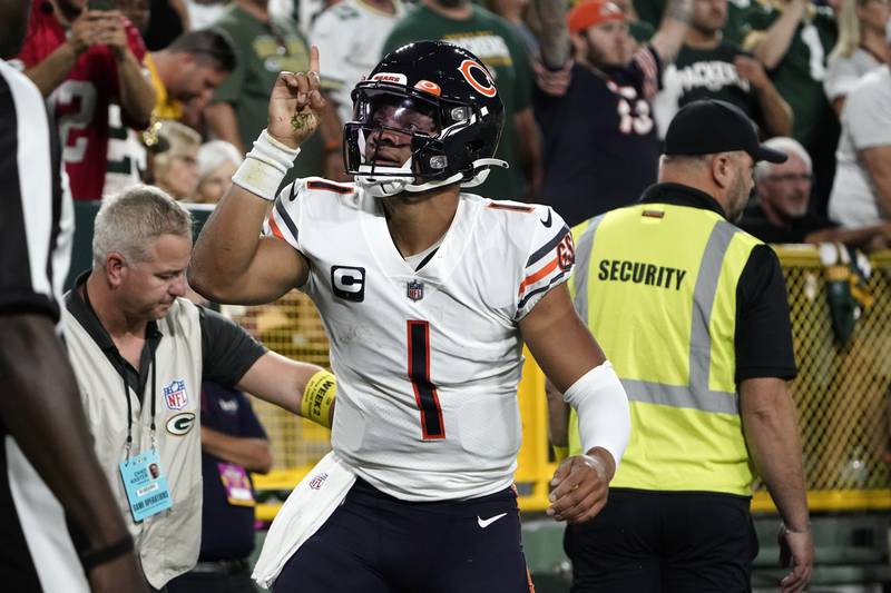
{"label": "dark navy number 13 jersey on spectator in orange cap", "polygon": [[540,200],[569,226],[629,206],[656,182],[659,141],[648,99],[660,69],[646,47],[609,78],[576,65],[564,97],[535,90],[545,139]]}

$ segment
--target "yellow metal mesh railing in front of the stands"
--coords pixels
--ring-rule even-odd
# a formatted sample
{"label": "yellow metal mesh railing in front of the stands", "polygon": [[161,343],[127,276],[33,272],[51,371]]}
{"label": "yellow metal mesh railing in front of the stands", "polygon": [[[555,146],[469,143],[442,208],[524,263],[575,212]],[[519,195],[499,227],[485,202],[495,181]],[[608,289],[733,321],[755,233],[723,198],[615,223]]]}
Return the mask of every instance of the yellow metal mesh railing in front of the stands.
{"label": "yellow metal mesh railing in front of the stands", "polygon": [[[891,253],[871,258],[866,288],[872,306],[856,322],[851,339],[833,336],[826,280],[813,247],[777,248],[789,290],[799,377],[791,384],[813,510],[891,508],[891,474],[883,459],[889,443],[891,386]],[[226,309],[270,348],[298,360],[327,366],[327,339],[313,304],[300,293],[264,307]],[[544,376],[527,355],[519,389],[523,444],[516,474],[520,506],[547,506],[549,458]],[[261,491],[286,493],[329,449],[329,431],[263,402],[254,402],[273,444],[275,470],[256,476]],[[770,512],[770,496],[756,484],[752,507]],[[277,505],[261,505],[271,518]]]}

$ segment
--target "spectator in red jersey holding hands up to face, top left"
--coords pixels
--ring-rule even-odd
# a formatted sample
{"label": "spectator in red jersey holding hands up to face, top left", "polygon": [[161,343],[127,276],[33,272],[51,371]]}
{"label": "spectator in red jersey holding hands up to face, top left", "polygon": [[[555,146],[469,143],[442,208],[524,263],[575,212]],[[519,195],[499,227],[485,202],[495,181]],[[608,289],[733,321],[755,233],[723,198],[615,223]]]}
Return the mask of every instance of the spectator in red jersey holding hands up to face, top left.
{"label": "spectator in red jersey holding hands up to face, top left", "polygon": [[145,53],[139,32],[117,10],[89,10],[86,0],[32,7],[18,60],[56,117],[75,199],[102,196],[109,102],[120,103],[129,126],[149,122],[155,91]]}

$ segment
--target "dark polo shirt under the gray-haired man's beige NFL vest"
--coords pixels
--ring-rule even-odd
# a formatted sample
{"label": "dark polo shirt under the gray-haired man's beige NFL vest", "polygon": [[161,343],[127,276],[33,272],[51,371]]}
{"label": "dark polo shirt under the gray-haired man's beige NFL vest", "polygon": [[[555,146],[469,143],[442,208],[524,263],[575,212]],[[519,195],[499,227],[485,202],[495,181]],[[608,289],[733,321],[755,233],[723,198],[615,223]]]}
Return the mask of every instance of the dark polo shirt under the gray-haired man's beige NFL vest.
{"label": "dark polo shirt under the gray-haired man's beige NFL vest", "polygon": [[[151,360],[164,334],[158,324],[149,322],[146,326],[146,343],[139,356],[139,368],[120,355],[117,346],[108,335],[88,300],[81,296],[81,287],[86,287],[89,273],[81,274],[75,288],[65,295],[68,312],[84,326],[97,346],[101,348],[111,365],[127,385],[141,399],[151,369]],[[222,385],[234,386],[254,363],[266,353],[266,348],[254,340],[241,326],[216,312],[198,307],[202,327],[203,367],[202,378],[215,380]]]}

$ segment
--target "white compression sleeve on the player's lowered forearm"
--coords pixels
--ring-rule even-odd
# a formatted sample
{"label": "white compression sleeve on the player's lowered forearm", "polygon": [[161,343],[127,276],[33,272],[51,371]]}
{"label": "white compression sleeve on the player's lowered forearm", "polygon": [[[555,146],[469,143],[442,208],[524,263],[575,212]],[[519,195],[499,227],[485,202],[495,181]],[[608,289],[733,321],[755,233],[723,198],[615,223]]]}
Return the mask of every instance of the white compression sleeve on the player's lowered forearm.
{"label": "white compression sleeve on the player's lowered forearm", "polygon": [[588,370],[564,393],[564,399],[578,414],[581,449],[604,447],[618,470],[631,433],[631,416],[628,396],[613,364],[604,360]]}

